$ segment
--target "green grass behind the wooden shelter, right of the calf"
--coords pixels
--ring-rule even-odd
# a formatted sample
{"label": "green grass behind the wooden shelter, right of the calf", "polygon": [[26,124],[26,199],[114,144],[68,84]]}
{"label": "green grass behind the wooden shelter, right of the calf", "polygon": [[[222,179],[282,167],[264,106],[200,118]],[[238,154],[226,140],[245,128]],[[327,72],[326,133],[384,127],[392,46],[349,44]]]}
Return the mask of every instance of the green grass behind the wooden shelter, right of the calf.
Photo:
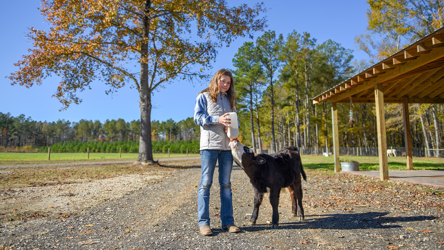
{"label": "green grass behind the wooden shelter, right of the calf", "polygon": [[[302,164],[306,169],[333,171],[333,156],[301,155]],[[359,162],[360,171],[379,170],[379,158],[377,156],[340,156],[342,162]],[[405,157],[389,157],[389,170],[408,170]],[[444,158],[413,158],[414,170],[444,169]]]}

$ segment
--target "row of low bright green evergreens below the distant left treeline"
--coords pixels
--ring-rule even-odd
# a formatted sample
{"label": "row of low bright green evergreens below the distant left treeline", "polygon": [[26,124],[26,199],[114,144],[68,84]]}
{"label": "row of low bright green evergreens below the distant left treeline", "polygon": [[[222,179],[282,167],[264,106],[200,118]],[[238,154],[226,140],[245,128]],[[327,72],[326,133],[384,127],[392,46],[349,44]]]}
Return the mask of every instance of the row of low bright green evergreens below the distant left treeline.
{"label": "row of low bright green evergreens below the distant left treeline", "polygon": [[[188,153],[199,153],[198,140],[180,140],[176,142],[168,141],[152,141],[153,153],[170,153],[185,154],[188,148]],[[119,148],[122,148],[122,153],[138,153],[139,141],[127,142],[107,142],[107,141],[70,141],[63,143],[55,143],[51,146],[51,152],[55,153],[84,153],[87,148],[91,153],[119,153]],[[48,147],[40,147],[39,152],[48,152]]]}

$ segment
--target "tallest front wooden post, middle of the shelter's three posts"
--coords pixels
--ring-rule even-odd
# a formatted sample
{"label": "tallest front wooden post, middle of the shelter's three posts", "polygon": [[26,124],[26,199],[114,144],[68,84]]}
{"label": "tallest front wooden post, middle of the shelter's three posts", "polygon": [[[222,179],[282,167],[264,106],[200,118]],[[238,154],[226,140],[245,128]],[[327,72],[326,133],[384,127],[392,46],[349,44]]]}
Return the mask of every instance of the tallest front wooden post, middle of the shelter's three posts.
{"label": "tallest front wooden post, middle of the shelter's three posts", "polygon": [[375,84],[376,124],[378,131],[379,177],[389,179],[389,163],[387,161],[387,135],[385,133],[384,93],[382,83]]}

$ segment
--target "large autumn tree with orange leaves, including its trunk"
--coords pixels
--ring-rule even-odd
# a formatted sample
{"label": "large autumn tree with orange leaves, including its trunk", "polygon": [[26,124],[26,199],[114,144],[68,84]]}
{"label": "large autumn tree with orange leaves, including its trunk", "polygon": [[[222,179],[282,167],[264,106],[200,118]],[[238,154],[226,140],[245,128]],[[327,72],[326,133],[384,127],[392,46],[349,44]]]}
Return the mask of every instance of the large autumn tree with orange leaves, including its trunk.
{"label": "large autumn tree with orange leaves, including its trunk", "polygon": [[[173,79],[202,78],[217,48],[263,30],[263,4],[229,7],[225,0],[42,0],[48,32],[29,28],[31,54],[15,65],[12,84],[31,87],[55,74],[53,95],[62,109],[80,103],[77,91],[102,81],[114,91],[131,83],[139,91],[138,161],[153,163],[151,93]],[[191,40],[192,31],[200,39]],[[129,65],[140,64],[139,71]],[[200,65],[200,71],[193,71]],[[134,66],[133,66],[134,68]],[[107,91],[108,93],[108,91]]]}

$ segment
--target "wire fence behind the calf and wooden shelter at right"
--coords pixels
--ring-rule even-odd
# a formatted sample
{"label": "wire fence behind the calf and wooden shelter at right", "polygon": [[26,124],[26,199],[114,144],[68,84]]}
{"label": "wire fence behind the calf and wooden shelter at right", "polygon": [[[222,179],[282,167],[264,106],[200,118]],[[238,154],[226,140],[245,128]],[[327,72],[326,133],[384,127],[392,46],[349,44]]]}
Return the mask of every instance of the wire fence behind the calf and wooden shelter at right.
{"label": "wire fence behind the calf and wooden shelter at right", "polygon": [[[405,147],[387,147],[388,150],[396,150],[396,156],[405,156]],[[281,149],[278,149],[278,151]],[[301,147],[299,148],[301,155],[323,155],[328,153],[333,155],[333,148],[329,148],[328,152],[325,151],[325,147]],[[435,157],[436,154],[439,157],[444,158],[444,149],[426,149],[420,147],[412,148],[412,155],[414,157],[426,157],[426,152],[428,152],[428,157]],[[262,153],[269,153],[268,150],[262,150]],[[377,147],[340,147],[339,155],[356,155],[356,156],[379,156]],[[394,156],[394,155],[391,155]]]}

